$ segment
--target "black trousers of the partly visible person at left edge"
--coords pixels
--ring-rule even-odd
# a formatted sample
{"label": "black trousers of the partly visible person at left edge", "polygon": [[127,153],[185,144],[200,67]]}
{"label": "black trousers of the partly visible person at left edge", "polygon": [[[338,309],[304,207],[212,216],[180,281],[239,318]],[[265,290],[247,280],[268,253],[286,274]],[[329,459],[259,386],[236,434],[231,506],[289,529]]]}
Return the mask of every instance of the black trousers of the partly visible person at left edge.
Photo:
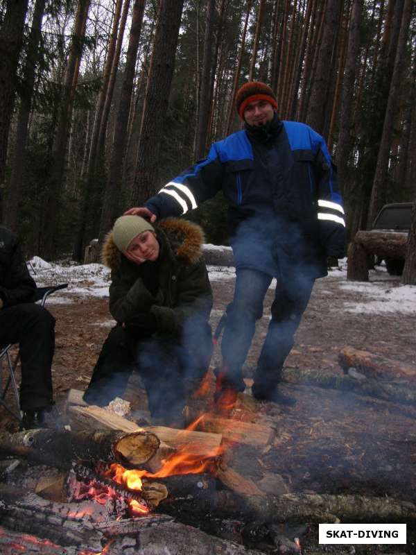
{"label": "black trousers of the partly visible person at left edge", "polygon": [[55,318],[32,303],[0,310],[0,344],[19,343],[22,411],[52,404],[51,365],[55,350]]}

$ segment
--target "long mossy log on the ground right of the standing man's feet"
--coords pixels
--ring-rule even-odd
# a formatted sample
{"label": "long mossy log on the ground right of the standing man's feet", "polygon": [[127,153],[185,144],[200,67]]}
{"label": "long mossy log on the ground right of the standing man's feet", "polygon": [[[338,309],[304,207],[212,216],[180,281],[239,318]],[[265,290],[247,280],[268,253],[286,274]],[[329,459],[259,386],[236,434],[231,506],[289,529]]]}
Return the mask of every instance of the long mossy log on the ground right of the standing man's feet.
{"label": "long mossy log on the ground right of the standing man's feet", "polygon": [[356,379],[349,375],[338,375],[320,370],[300,370],[300,368],[285,368],[283,371],[284,382],[290,384],[310,384],[323,388],[352,391],[358,395],[369,395],[385,401],[405,404],[416,403],[416,391],[409,388],[376,382],[374,379]]}

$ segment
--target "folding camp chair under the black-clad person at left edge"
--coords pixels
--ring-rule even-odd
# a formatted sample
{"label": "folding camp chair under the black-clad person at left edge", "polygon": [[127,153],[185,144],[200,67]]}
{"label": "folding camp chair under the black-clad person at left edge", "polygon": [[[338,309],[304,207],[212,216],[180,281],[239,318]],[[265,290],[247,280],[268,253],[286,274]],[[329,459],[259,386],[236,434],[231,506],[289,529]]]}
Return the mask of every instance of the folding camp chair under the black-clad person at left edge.
{"label": "folding camp chair under the black-clad person at left edge", "polygon": [[[68,287],[67,283],[62,283],[60,285],[55,285],[51,287],[38,287],[31,299],[31,302],[38,302],[40,301],[40,306],[44,307],[46,298],[49,297],[55,291],[59,291],[60,289],[66,289]],[[12,355],[10,355],[10,350],[15,343],[9,343],[6,346],[0,347],[0,404],[6,409],[6,411],[10,412],[12,416],[17,418],[17,420],[21,420],[21,411],[20,411],[20,403],[19,403],[19,390],[17,387],[16,377],[15,377],[15,370],[17,368],[17,364],[19,363],[20,352],[17,352],[17,355],[14,360],[12,360]],[[3,364],[6,361],[6,364]],[[3,383],[6,382],[6,385],[3,387]],[[17,404],[17,410],[12,409],[8,406],[5,401],[6,393],[8,392],[8,388],[12,386],[12,395],[15,403]]]}

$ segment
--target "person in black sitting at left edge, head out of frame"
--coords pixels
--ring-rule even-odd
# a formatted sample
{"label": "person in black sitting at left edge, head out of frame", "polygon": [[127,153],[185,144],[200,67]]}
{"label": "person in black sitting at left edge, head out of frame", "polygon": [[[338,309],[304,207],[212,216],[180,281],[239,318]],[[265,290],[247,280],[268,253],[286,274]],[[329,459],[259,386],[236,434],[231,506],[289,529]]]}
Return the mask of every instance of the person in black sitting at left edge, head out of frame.
{"label": "person in black sitting at left edge, head out of frame", "polygon": [[0,345],[19,343],[21,429],[45,427],[53,405],[55,319],[31,302],[35,289],[16,235],[0,227]]}

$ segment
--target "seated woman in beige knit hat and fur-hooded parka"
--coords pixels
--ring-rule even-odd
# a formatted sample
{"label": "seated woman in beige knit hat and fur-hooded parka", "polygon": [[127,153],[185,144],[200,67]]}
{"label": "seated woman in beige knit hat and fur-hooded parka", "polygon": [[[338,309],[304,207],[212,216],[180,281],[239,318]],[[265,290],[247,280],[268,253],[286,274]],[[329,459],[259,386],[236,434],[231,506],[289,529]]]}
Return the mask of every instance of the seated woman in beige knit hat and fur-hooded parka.
{"label": "seated woman in beige knit hat and fur-hooded parka", "polygon": [[153,227],[140,216],[121,216],[107,235],[104,264],[112,270],[107,337],[84,394],[105,406],[122,396],[137,369],[150,414],[168,425],[182,422],[189,389],[211,359],[212,292],[202,257],[202,230],[166,219]]}

